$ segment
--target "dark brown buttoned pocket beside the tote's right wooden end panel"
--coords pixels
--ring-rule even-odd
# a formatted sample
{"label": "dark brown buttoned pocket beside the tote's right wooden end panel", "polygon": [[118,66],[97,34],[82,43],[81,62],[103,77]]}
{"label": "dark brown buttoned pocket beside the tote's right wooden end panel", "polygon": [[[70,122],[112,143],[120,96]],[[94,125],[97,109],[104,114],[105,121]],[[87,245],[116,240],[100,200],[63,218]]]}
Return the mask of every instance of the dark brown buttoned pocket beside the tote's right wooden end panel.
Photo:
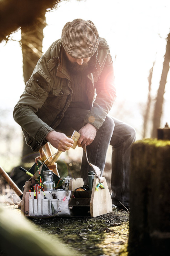
{"label": "dark brown buttoned pocket beside the tote's right wooden end panel", "polygon": [[90,216],[91,191],[72,191],[70,198],[71,216]]}

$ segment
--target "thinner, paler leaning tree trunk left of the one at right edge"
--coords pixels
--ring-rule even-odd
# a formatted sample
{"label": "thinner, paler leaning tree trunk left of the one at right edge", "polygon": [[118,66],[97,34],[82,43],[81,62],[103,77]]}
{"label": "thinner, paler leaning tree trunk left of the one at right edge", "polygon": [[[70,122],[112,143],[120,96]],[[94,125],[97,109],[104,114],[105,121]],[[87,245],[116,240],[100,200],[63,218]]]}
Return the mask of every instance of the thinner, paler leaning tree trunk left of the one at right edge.
{"label": "thinner, paler leaning tree trunk left of the one at right edge", "polygon": [[150,114],[150,107],[151,107],[151,84],[152,84],[152,74],[153,74],[153,68],[154,68],[155,62],[153,63],[152,68],[149,70],[149,76],[148,76],[148,96],[147,96],[147,105],[146,105],[146,110],[144,114],[144,128],[143,128],[143,138],[146,137],[147,134],[147,126],[148,126],[148,121],[149,121],[149,114]]}

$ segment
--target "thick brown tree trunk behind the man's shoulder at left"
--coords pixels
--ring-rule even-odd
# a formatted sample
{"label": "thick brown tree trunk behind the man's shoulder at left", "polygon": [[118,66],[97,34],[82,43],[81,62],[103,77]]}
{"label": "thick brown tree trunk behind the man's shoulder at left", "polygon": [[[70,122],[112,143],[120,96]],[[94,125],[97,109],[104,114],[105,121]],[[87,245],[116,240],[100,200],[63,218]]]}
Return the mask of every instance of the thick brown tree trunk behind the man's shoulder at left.
{"label": "thick brown tree trunk behind the man's shoulder at left", "polygon": [[[32,72],[42,55],[43,29],[45,27],[45,11],[36,19],[31,27],[21,28],[21,45],[23,54],[23,74],[25,83],[29,80]],[[22,162],[32,162],[39,155],[32,151],[25,138],[23,141]]]}

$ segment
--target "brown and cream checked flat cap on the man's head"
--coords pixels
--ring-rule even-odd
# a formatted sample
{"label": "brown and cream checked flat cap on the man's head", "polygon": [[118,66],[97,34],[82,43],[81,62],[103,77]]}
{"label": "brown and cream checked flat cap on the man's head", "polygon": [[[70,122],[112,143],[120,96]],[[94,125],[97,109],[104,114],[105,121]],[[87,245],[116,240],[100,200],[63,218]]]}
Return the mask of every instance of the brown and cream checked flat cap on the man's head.
{"label": "brown and cream checked flat cap on the man's head", "polygon": [[91,20],[74,19],[65,24],[61,41],[70,56],[75,59],[84,59],[96,52],[99,34]]}

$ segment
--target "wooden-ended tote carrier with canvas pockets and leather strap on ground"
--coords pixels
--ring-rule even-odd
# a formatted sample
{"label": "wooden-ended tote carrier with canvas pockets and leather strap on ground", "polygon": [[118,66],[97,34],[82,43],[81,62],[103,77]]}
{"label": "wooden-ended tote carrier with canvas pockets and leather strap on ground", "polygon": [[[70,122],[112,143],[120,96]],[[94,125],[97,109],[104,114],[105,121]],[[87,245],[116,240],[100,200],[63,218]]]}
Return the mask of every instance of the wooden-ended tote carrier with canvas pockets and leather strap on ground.
{"label": "wooden-ended tote carrier with canvas pockets and leather strap on ground", "polygon": [[[86,146],[83,147],[86,158]],[[87,162],[88,158],[87,158]],[[31,187],[36,184],[35,179],[39,177],[38,171],[34,176],[25,182],[23,199],[21,202],[21,212],[26,217],[48,218],[61,216],[91,216],[96,217],[112,212],[112,199],[104,177],[100,177],[100,169],[89,163],[93,167],[95,179],[92,191],[75,191],[76,188],[83,187],[82,178],[72,179],[69,184],[68,196],[65,196],[65,190],[50,193],[49,191],[40,192],[38,198],[34,199],[34,192],[29,192]],[[41,174],[43,164],[39,171]],[[105,189],[101,187],[96,190],[96,186],[102,183]],[[44,195],[45,193],[45,195]],[[45,199],[44,199],[45,198]]]}

